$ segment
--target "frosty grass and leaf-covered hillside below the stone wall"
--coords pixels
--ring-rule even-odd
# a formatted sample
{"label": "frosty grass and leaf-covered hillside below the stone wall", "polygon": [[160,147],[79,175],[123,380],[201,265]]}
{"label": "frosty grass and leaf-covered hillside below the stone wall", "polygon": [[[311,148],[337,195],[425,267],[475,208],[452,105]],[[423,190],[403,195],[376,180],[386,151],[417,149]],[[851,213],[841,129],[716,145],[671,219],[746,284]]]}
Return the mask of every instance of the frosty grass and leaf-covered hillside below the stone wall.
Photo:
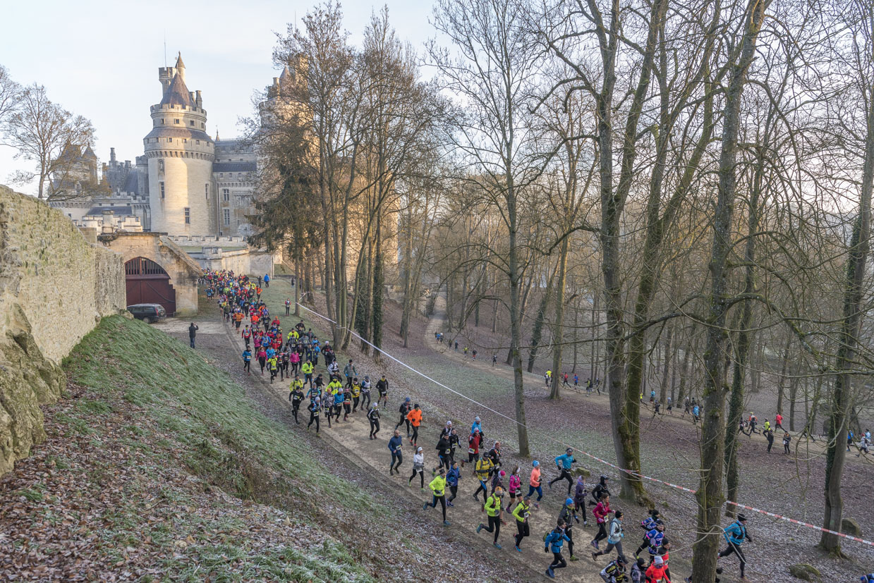
{"label": "frosty grass and leaf-covered hillside below the stone wall", "polygon": [[[0,580],[417,580],[449,556],[213,364],[121,316],[83,339],[48,439],[0,480]],[[440,561],[447,578],[470,577],[466,554]]]}

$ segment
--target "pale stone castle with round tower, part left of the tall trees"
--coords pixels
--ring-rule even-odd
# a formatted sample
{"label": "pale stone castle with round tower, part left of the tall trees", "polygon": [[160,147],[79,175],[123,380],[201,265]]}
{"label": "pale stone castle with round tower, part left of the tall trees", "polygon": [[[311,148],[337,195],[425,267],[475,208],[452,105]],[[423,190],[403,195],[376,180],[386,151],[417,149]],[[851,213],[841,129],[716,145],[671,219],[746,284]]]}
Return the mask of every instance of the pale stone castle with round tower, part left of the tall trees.
{"label": "pale stone castle with round tower, part left of the tall trees", "polygon": [[[149,108],[152,123],[142,140],[143,156],[136,156],[134,165],[120,163],[110,149],[102,189],[83,191],[78,185],[82,196],[50,204],[80,226],[198,239],[253,234],[255,149],[207,133],[203,96],[186,86],[181,53],[175,66],[158,68],[158,81],[161,101]],[[96,178],[97,158],[90,148],[81,165],[83,177]]]}

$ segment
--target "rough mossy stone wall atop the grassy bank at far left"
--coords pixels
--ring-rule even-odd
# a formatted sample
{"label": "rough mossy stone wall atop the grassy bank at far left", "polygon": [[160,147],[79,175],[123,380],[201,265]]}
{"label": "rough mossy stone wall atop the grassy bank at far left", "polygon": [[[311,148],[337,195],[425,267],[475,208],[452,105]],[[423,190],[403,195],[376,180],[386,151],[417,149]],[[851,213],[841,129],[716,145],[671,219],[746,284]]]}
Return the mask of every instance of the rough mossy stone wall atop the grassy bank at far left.
{"label": "rough mossy stone wall atop the grassy bank at far left", "polygon": [[0,185],[0,475],[45,439],[39,406],[60,395],[60,360],[124,307],[120,254]]}

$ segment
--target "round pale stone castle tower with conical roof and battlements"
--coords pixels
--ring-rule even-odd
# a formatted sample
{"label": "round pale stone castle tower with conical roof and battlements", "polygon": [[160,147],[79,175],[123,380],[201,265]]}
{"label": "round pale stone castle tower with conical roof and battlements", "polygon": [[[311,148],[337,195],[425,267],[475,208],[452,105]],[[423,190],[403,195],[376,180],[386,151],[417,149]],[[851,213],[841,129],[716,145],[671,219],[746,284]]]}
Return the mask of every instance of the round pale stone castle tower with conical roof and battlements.
{"label": "round pale stone castle tower with conical roof and battlements", "polygon": [[215,142],[206,133],[200,92],[188,90],[184,75],[181,54],[176,66],[158,69],[162,98],[150,108],[152,130],[143,139],[151,230],[210,235],[217,232],[212,187]]}

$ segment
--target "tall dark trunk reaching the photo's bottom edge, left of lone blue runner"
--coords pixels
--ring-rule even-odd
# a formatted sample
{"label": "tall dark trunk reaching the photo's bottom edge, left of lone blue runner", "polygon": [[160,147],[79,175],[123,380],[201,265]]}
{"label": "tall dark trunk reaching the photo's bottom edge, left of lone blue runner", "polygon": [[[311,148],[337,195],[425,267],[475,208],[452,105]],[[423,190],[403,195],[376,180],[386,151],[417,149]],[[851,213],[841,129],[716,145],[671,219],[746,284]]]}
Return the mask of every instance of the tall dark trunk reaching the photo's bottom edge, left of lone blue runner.
{"label": "tall dark trunk reaching the photo's bottom edge, left of lone blue runner", "polygon": [[722,146],[719,156],[718,197],[713,212],[713,248],[711,251],[711,290],[707,316],[707,342],[704,349],[704,415],[701,428],[700,484],[697,489],[697,541],[693,545],[692,571],[698,581],[716,578],[716,558],[722,537],[720,526],[725,463],[725,316],[729,304],[729,254],[732,251],[737,177],[737,149],[741,97],[746,72],[753,62],[769,0],[750,0],[746,6],[739,60],[732,64],[731,78],[725,91]]}

